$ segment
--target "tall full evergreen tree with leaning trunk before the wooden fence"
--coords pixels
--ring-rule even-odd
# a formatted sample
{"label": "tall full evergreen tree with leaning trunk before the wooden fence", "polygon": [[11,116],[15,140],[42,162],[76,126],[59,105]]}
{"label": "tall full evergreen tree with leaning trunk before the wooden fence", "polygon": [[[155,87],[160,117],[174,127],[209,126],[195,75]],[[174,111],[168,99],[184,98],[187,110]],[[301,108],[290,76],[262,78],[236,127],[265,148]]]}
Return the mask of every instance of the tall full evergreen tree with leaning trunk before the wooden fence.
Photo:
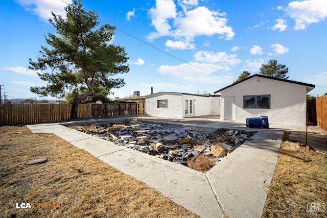
{"label": "tall full evergreen tree with leaning trunk before the wooden fence", "polygon": [[[124,86],[123,79],[110,77],[128,72],[129,66],[125,48],[111,43],[115,27],[108,24],[98,27],[98,14],[85,11],[81,0],[74,0],[65,11],[65,19],[54,13],[53,19],[49,19],[56,29],[55,34],[45,37],[50,47],[41,46],[36,62],[29,59],[29,68],[41,71],[40,79],[48,81],[46,86],[31,87],[31,91],[57,98],[79,93],[72,106],[71,119],[75,119],[78,105],[96,90],[105,87],[109,91]],[[78,91],[83,88],[85,92]]]}

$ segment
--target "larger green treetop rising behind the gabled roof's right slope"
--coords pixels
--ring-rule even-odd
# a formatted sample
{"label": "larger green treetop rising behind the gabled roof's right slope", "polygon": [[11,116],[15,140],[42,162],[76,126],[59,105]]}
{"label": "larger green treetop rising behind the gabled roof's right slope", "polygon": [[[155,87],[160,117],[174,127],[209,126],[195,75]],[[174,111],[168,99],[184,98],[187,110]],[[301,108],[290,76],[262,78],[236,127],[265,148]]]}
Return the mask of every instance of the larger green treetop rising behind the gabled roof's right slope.
{"label": "larger green treetop rising behind the gabled roof's right slope", "polygon": [[288,67],[286,65],[277,64],[276,60],[270,60],[268,64],[261,65],[260,74],[281,79],[288,79],[286,74]]}

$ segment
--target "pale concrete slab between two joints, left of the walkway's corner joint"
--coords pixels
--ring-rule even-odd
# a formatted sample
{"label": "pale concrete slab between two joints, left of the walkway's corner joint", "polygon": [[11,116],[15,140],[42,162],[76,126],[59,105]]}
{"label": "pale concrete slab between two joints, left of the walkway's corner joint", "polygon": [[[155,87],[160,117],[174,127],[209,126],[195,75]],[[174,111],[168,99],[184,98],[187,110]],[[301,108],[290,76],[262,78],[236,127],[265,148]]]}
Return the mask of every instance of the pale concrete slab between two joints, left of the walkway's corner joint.
{"label": "pale concrete slab between two joints, left of the walkway's corner joint", "polygon": [[223,217],[203,173],[131,149],[99,157],[201,217]]}

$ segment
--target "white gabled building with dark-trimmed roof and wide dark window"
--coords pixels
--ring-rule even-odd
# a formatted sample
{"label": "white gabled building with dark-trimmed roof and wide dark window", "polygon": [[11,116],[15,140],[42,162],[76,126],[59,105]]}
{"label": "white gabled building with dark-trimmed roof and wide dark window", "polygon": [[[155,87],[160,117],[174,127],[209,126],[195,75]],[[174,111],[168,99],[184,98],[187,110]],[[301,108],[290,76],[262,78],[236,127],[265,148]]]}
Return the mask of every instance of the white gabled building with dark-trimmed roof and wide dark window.
{"label": "white gabled building with dark-trimmed roof and wide dark window", "polygon": [[268,116],[270,124],[306,125],[306,95],[315,85],[253,75],[215,92],[221,96],[220,119],[245,123]]}

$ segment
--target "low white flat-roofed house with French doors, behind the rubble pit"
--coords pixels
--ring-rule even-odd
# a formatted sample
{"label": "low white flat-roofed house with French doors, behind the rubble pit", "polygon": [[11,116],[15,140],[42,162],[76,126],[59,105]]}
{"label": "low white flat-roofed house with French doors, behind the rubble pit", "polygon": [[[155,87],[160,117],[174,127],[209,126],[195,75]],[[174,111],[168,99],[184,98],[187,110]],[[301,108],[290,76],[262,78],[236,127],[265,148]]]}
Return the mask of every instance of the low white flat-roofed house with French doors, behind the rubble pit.
{"label": "low white flat-roofed house with French doors, behind the rubble pit", "polygon": [[220,114],[219,95],[157,92],[147,95],[145,101],[149,116],[183,118]]}

